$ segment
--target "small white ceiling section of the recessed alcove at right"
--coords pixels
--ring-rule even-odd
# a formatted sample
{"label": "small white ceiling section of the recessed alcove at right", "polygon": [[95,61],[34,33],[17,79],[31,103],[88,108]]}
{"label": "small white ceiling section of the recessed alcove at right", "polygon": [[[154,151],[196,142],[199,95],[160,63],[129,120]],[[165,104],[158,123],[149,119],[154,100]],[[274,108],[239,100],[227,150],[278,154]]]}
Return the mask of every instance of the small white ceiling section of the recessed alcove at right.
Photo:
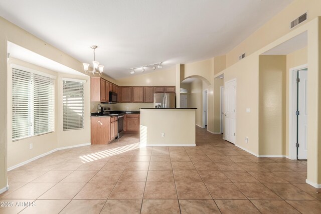
{"label": "small white ceiling section of the recessed alcove at right", "polygon": [[262,55],[288,55],[307,46],[307,32],[303,32],[292,39],[264,52]]}

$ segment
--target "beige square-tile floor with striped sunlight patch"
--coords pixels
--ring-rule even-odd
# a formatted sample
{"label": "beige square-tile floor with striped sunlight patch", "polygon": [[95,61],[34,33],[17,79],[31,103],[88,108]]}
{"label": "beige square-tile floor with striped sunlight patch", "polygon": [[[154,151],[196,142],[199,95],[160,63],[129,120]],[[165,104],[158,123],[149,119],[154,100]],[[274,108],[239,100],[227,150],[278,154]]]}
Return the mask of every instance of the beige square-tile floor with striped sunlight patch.
{"label": "beige square-tile floor with striped sunlight patch", "polygon": [[[109,145],[54,152],[8,173],[0,213],[319,213],[306,161],[258,158],[196,128],[196,147]],[[29,205],[28,205],[29,204]]]}

